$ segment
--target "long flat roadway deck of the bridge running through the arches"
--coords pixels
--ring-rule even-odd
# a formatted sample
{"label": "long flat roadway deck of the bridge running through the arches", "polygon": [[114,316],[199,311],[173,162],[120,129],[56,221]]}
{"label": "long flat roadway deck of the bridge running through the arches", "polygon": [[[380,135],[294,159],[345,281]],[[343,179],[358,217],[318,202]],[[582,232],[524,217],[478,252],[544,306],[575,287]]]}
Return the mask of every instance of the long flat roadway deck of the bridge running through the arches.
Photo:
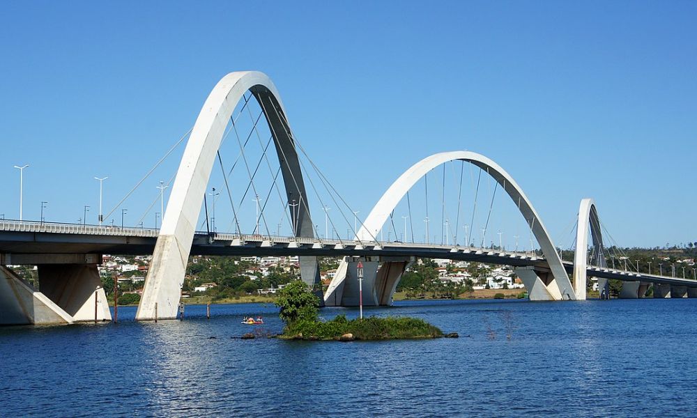
{"label": "long flat roadway deck of the bridge running through the arches", "polygon": [[[47,222],[0,220],[0,265],[36,264],[47,254],[70,256],[86,254],[153,254],[159,230],[121,228]],[[531,266],[549,271],[544,257],[530,252],[499,251],[477,247],[408,242],[360,242],[323,238],[292,238],[267,235],[237,235],[198,231],[194,234],[192,255],[208,256],[381,256],[448,258],[514,267]],[[563,261],[569,274],[574,263]],[[588,266],[588,276],[621,281],[697,287],[697,281]]]}

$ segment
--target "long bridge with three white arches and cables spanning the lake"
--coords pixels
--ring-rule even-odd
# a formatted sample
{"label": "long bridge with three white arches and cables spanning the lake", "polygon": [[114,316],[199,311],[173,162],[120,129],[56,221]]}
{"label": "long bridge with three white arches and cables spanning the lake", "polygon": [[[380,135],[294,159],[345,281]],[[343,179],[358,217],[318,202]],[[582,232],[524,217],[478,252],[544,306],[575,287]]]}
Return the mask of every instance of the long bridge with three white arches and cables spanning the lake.
{"label": "long bridge with three white arches and cables spanning the lake", "polygon": [[[252,112],[254,103],[258,110]],[[250,129],[243,131],[240,119],[247,115]],[[259,123],[262,117],[266,123]],[[263,127],[268,131],[260,132]],[[227,170],[226,167],[230,165],[226,166],[223,160],[222,145],[229,136],[236,138],[238,152],[237,159],[231,164],[232,168]],[[250,141],[253,143],[254,139],[258,141],[261,153],[250,157],[247,144]],[[369,215],[359,222],[358,211],[353,210],[331,185],[328,176],[319,170],[291,132],[279,93],[270,79],[261,72],[232,72],[221,79],[208,96],[192,129],[176,145],[183,141],[186,146],[176,176],[167,185],[164,185],[164,181],[160,182],[158,187],[160,213],[164,212],[160,228],[144,228],[142,224],[140,228],[123,225],[125,209],[120,205],[132,191],[106,217],[121,208],[121,227],[102,223],[105,217],[102,215],[101,201],[99,222],[96,225],[86,224],[86,219],[80,224],[44,222],[43,219],[40,222],[30,222],[22,219],[21,210],[20,219],[0,220],[0,324],[72,323],[110,319],[106,294],[100,288],[97,268],[102,254],[153,254],[137,311],[138,320],[176,318],[190,255],[299,256],[300,276],[308,285],[319,281],[317,257],[341,257],[337,273],[323,295],[324,303],[328,306],[358,304],[359,262],[362,263],[365,274],[364,304],[391,304],[402,274],[417,258],[448,258],[510,265],[526,286],[530,300],[585,300],[588,277],[598,279],[603,297],[608,294],[608,279],[618,279],[624,283],[620,297],[643,297],[650,286],[653,286],[656,297],[697,296],[695,280],[608,268],[606,259],[611,256],[611,250],[604,245],[605,230],[592,199],[583,199],[579,207],[574,261],[562,261],[557,252],[558,247],[554,245],[523,189],[503,167],[489,157],[470,151],[438,153],[420,160],[397,178]],[[272,143],[273,147],[270,146]],[[172,150],[174,147],[165,157]],[[268,154],[275,155],[270,158]],[[272,160],[277,164],[272,164]],[[160,162],[162,160],[155,165],[155,169]],[[468,213],[471,215],[469,223],[461,224],[461,218],[464,219],[461,214],[464,207],[462,188],[465,164],[470,166],[473,208]],[[215,226],[215,201],[221,194],[221,189],[216,193],[213,188],[211,193],[207,193],[214,166],[222,172],[217,181],[224,184],[222,191],[227,192],[233,215],[233,231],[229,233],[220,233]],[[266,182],[268,187],[265,189],[260,185],[263,182],[259,175],[264,166],[269,169]],[[237,172],[234,171],[236,167]],[[436,196],[441,210],[441,236],[438,243],[438,238],[431,240],[429,231],[429,222],[436,219],[432,212],[429,217],[429,202],[432,204],[436,200],[433,199],[432,185],[429,199],[429,184],[434,181],[436,169],[440,170],[441,167],[441,196]],[[450,167],[452,171],[452,183],[459,186],[454,192],[447,193],[448,196],[457,196],[457,205],[453,204],[450,208],[446,205],[446,167]],[[154,169],[148,171],[136,187],[153,171]],[[233,181],[234,173],[248,181]],[[485,189],[482,177],[491,199],[489,196],[482,196]],[[98,180],[101,186],[104,179]],[[310,187],[305,186],[306,181]],[[421,183],[425,189],[425,233],[422,242],[418,242],[415,240],[415,215],[411,204],[415,199],[410,196],[410,192],[414,193],[414,189]],[[441,180],[438,179],[437,183],[441,183]],[[164,189],[168,187],[171,187],[171,194],[167,210],[164,210]],[[324,188],[323,193],[319,192],[321,187]],[[281,192],[282,188],[284,193]],[[315,196],[309,196],[309,190]],[[486,245],[487,231],[492,229],[490,222],[498,190],[501,191],[499,196],[507,195],[507,203],[518,213],[526,233],[530,235],[528,251],[518,250],[518,238],[521,235],[514,235],[516,245],[513,251],[505,249],[501,229],[496,233],[499,245],[493,245],[493,240],[491,245]],[[270,207],[273,206],[269,202],[275,194],[279,203],[276,206],[280,207],[275,215],[279,215],[281,222],[277,224],[277,233],[274,234],[271,233],[273,224],[268,218],[272,212]],[[241,199],[238,197],[240,195]],[[208,196],[211,196],[212,203],[210,214]],[[256,203],[254,222],[247,226],[252,229],[251,233],[243,233],[243,226],[240,225],[244,217],[243,202],[247,196],[251,196],[250,199],[253,197],[252,200]],[[239,201],[237,205],[235,200]],[[157,199],[153,204],[156,201]],[[480,237],[473,234],[477,201],[480,201],[480,210],[484,206],[484,210],[480,212],[481,222],[478,223],[478,226],[482,226]],[[311,215],[310,207],[314,202],[321,204],[324,212],[323,237],[319,232],[319,219],[313,219]],[[346,223],[346,239],[338,236],[336,222],[328,215],[330,208],[325,203],[330,202]],[[395,210],[405,206],[405,203],[404,212],[407,215],[401,216],[404,220],[404,233],[401,234],[401,239],[392,240],[391,233],[395,233],[395,238],[398,236],[394,222]],[[457,215],[452,222],[446,214],[454,206],[457,206]],[[353,224],[346,214],[353,215]],[[408,228],[407,220],[410,221],[411,229]],[[334,235],[332,238],[329,238],[330,221]],[[218,222],[220,223],[220,216]],[[280,233],[283,222],[289,226],[289,235]],[[200,227],[204,225],[206,229],[201,230]],[[385,226],[388,227],[388,240],[383,238]],[[460,226],[464,227],[464,235],[459,235]],[[410,231],[411,240],[408,239]],[[588,240],[589,235],[591,242]],[[534,241],[539,249],[533,247]],[[8,268],[10,265],[37,265],[39,288],[33,288],[18,277]]]}

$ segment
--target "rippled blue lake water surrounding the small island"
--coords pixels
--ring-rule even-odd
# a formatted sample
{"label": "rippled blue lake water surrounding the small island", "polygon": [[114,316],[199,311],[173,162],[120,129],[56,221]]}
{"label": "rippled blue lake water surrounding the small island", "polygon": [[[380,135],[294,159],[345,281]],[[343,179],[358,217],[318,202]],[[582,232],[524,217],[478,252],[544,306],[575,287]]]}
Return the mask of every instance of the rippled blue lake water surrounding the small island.
{"label": "rippled blue lake water surrounding the small island", "polygon": [[[696,299],[397,302],[459,339],[298,342],[273,306],[0,329],[0,416],[694,417]],[[325,309],[327,318],[354,309]],[[212,337],[215,337],[213,339]]]}

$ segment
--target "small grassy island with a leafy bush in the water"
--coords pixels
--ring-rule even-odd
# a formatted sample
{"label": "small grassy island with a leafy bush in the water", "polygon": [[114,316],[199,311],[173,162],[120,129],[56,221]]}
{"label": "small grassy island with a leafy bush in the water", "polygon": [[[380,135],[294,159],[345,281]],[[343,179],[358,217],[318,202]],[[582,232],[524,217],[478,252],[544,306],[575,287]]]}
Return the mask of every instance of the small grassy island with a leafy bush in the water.
{"label": "small grassy island with a leafy bush in the water", "polygon": [[[319,320],[319,298],[300,280],[293,281],[280,291],[275,304],[286,326],[281,339],[306,341],[377,341],[387,339],[426,339],[446,336],[419,318],[371,316],[346,319],[339,315],[328,321]],[[447,334],[457,336],[457,334]]]}

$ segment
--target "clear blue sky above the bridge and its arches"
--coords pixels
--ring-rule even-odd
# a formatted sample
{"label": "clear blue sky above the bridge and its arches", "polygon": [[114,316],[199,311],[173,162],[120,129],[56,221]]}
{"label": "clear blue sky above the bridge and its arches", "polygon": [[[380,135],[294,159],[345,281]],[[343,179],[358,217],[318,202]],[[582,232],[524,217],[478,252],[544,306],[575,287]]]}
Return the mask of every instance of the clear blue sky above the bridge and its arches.
{"label": "clear blue sky above the bridge and its arches", "polygon": [[[622,245],[697,241],[696,21],[690,1],[7,2],[0,214],[19,215],[15,164],[31,164],[25,219],[40,201],[49,221],[95,216],[94,176],[107,212],[220,77],[261,70],[361,213],[420,158],[467,149],[553,236],[593,197]],[[125,203],[130,222],[160,178]]]}

